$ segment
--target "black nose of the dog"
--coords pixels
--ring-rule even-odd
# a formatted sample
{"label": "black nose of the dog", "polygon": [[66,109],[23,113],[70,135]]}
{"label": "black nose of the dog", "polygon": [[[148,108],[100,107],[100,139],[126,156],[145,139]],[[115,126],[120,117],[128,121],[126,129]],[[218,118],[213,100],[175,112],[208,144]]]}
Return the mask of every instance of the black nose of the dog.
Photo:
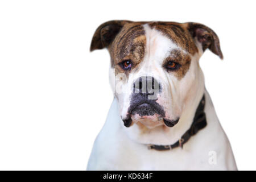
{"label": "black nose of the dog", "polygon": [[153,95],[160,93],[160,84],[152,76],[142,76],[137,78],[133,84],[133,93]]}

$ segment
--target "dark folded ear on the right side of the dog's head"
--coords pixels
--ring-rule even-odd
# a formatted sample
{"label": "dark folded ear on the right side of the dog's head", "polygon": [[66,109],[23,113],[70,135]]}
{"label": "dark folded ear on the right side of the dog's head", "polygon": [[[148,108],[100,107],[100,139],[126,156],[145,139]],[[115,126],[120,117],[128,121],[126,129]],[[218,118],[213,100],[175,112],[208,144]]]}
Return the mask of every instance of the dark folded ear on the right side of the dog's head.
{"label": "dark folded ear on the right side of the dog's head", "polygon": [[220,59],[223,59],[223,55],[220,48],[220,40],[217,34],[209,27],[200,23],[188,23],[188,30],[194,39],[197,39],[201,43],[203,51],[210,49],[214,54],[218,55]]}

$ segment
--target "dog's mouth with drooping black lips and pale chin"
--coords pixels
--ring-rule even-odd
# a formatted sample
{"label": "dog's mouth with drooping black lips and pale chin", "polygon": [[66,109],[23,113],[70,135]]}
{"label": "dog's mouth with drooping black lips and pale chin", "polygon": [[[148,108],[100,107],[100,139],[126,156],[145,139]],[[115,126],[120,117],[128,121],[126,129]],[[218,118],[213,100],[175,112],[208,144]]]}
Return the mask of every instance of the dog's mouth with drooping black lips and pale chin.
{"label": "dog's mouth with drooping black lips and pale chin", "polygon": [[134,122],[142,123],[148,128],[154,128],[163,124],[172,127],[179,121],[179,118],[175,121],[167,119],[165,115],[166,113],[161,105],[154,100],[148,100],[131,105],[123,123],[126,127],[130,127],[131,123]]}

